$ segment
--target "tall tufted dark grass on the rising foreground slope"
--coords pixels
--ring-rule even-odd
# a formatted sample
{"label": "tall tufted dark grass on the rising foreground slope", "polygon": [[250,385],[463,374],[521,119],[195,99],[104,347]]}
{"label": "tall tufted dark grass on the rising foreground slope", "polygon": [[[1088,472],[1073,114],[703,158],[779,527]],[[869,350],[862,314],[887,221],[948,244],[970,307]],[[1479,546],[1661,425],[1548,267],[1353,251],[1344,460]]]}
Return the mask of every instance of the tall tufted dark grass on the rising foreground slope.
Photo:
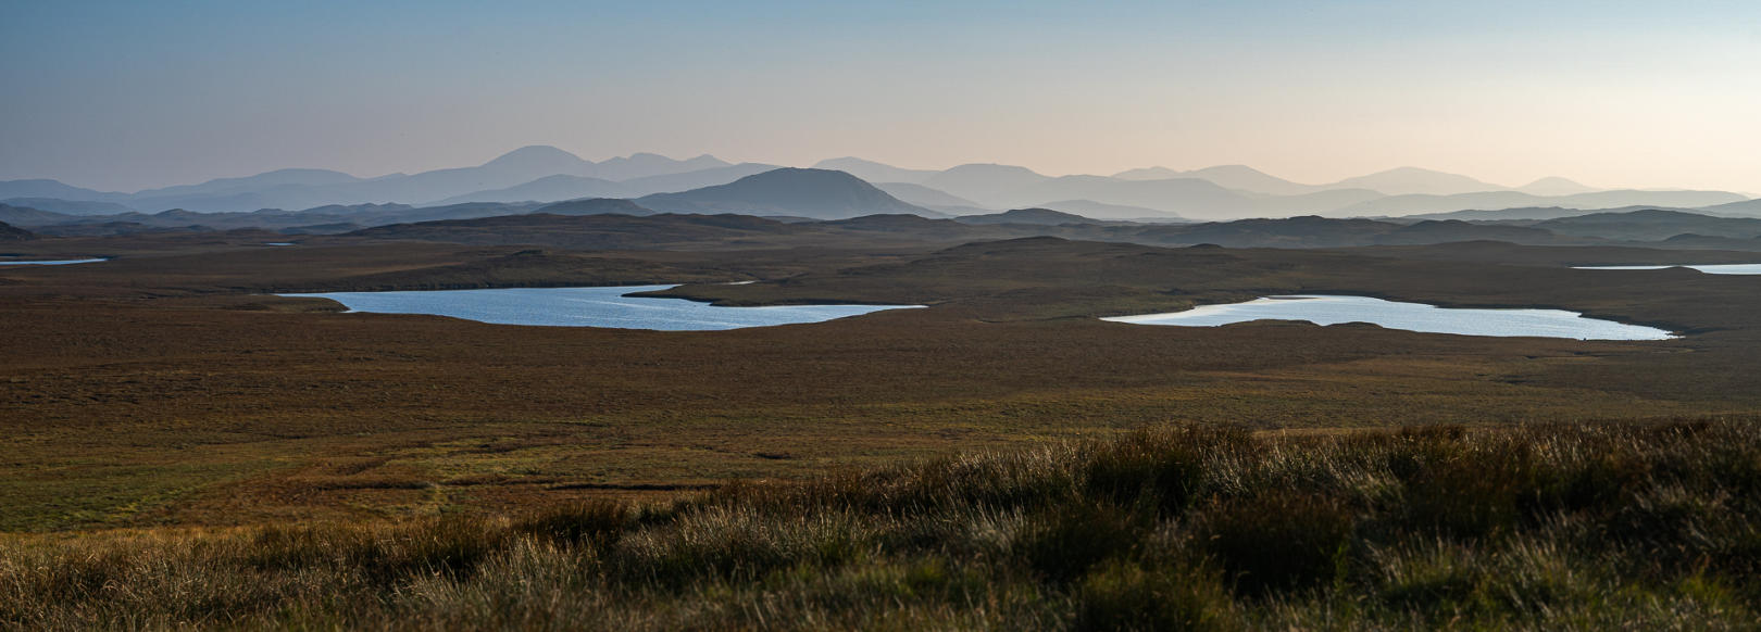
{"label": "tall tufted dark grass on the rising foreground slope", "polygon": [[19,628],[1747,628],[1757,419],[1157,426],[669,503],[0,540]]}

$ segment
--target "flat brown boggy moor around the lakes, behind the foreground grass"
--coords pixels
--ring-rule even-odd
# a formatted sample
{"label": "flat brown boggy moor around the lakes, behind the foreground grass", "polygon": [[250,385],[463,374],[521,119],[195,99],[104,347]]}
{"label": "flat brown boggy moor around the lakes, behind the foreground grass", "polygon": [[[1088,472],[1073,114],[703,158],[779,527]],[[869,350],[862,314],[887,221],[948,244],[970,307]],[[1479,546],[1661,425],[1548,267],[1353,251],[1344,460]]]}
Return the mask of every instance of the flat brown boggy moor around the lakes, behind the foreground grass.
{"label": "flat brown boggy moor around the lakes, behind the foreground grass", "polygon": [[[1576,259],[1610,255],[1595,248],[1529,248],[1516,257],[1529,266],[1488,268],[1474,257],[1509,246],[555,252],[261,239],[16,246],[118,259],[0,269],[11,444],[0,530],[500,514],[1168,421],[1374,428],[1761,408],[1750,370],[1761,278],[1562,268],[1618,262]],[[329,301],[262,296],[731,280],[761,283],[674,294],[932,308],[648,333],[343,315]],[[1289,292],[1548,305],[1689,334],[1581,343],[1092,319]]]}

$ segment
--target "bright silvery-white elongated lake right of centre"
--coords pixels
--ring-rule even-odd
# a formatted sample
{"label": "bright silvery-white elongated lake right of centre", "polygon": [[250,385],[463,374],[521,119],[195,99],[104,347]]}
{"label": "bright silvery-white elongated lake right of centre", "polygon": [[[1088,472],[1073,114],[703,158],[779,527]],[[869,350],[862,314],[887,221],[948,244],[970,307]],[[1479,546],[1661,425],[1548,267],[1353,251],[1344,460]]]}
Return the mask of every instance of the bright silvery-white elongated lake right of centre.
{"label": "bright silvery-white elongated lake right of centre", "polygon": [[1273,296],[1233,305],[1203,305],[1187,312],[1145,313],[1102,320],[1187,327],[1215,327],[1249,320],[1308,320],[1314,324],[1374,322],[1389,329],[1463,336],[1576,340],[1675,338],[1662,329],[1585,319],[1578,312],[1566,310],[1451,310],[1365,296]]}

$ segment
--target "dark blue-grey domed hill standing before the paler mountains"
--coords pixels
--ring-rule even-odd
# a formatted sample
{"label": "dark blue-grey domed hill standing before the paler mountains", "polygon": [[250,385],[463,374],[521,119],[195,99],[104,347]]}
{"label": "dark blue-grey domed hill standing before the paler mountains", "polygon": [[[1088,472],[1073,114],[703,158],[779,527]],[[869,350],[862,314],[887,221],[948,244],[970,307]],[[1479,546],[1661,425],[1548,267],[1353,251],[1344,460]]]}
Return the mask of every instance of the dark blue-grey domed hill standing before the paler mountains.
{"label": "dark blue-grey domed hill standing before the paler mountains", "polygon": [[740,178],[720,187],[645,195],[636,202],[660,213],[791,215],[821,220],[884,213],[933,213],[905,204],[842,171],[791,167]]}

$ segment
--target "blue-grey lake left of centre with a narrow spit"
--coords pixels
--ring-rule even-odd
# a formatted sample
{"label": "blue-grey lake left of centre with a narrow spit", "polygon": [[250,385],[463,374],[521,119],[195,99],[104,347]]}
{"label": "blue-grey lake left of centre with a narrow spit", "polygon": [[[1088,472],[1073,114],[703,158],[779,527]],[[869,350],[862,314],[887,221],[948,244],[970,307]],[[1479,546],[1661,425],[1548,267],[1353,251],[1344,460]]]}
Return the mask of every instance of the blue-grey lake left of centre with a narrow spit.
{"label": "blue-grey lake left of centre with a narrow spit", "polygon": [[782,305],[729,308],[708,303],[625,296],[676,285],[512,287],[490,290],[322,292],[350,312],[430,313],[493,324],[711,331],[822,322],[921,305]]}

